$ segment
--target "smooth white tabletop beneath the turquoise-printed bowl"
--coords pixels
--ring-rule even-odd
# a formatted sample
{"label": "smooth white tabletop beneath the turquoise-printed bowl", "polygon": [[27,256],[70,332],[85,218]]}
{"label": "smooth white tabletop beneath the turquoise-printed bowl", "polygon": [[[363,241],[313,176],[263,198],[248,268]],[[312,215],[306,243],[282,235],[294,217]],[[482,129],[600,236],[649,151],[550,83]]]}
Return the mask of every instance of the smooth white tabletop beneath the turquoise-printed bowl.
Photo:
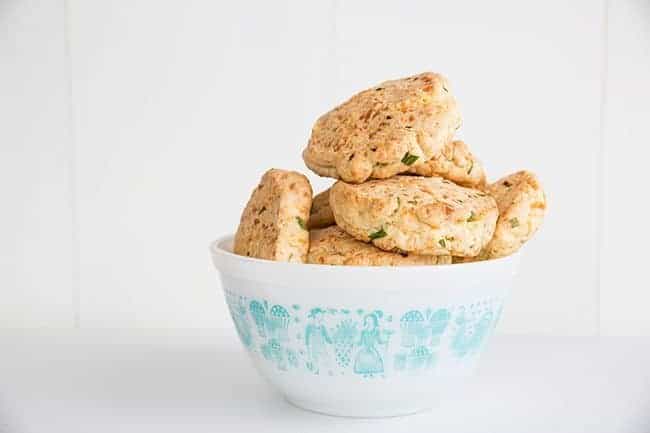
{"label": "smooth white tabletop beneath the turquoise-printed bowl", "polygon": [[497,336],[436,409],[364,420],[287,404],[230,329],[8,332],[1,433],[650,432],[649,338]]}

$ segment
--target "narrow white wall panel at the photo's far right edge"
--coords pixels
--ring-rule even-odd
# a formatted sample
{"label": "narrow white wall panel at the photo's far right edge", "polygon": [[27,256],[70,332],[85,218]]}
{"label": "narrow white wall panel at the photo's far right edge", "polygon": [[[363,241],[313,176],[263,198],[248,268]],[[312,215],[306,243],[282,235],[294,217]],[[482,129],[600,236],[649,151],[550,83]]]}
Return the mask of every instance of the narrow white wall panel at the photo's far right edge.
{"label": "narrow white wall panel at the photo's far right edge", "polygon": [[609,0],[601,329],[649,335],[650,3]]}

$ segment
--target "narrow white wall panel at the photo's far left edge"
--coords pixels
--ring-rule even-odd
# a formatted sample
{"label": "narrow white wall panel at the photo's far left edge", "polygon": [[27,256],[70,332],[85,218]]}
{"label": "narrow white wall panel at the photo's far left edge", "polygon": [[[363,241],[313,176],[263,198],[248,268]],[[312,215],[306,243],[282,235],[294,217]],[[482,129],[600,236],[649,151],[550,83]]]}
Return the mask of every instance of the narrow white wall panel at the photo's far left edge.
{"label": "narrow white wall panel at the photo's far left edge", "polygon": [[74,326],[64,16],[0,2],[0,327]]}

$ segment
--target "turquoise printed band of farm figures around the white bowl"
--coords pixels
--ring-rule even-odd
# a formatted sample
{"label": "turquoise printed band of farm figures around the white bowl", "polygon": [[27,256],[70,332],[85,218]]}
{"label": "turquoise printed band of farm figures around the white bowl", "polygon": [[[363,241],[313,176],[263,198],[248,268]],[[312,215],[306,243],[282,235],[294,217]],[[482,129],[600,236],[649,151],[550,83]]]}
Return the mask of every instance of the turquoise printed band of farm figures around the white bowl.
{"label": "turquoise printed band of farm figures around the white bowl", "polygon": [[316,375],[420,374],[443,360],[463,362],[483,346],[501,315],[500,299],[412,309],[302,308],[226,292],[244,346],[282,371]]}

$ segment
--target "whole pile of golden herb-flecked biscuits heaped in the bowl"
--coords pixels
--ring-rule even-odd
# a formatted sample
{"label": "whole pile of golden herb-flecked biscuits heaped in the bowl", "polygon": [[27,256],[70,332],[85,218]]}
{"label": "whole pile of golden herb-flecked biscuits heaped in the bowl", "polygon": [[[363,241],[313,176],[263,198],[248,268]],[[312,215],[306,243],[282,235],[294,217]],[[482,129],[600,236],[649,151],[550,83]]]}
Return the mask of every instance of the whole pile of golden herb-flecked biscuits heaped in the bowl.
{"label": "whole pile of golden herb-flecked biscuits heaped in the bowl", "polygon": [[302,174],[272,169],[244,209],[236,254],[357,266],[504,257],[537,231],[546,199],[520,171],[492,183],[468,145],[448,81],[386,81],[321,116],[303,159],[338,179],[312,197]]}

